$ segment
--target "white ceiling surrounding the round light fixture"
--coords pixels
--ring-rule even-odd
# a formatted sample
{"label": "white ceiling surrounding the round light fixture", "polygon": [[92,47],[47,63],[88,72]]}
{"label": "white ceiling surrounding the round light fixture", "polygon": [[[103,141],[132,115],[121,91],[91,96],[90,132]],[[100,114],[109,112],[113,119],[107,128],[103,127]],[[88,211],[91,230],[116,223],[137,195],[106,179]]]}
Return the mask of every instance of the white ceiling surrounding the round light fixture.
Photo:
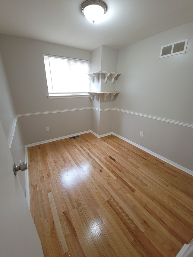
{"label": "white ceiling surrounding the round light fixture", "polygon": [[0,0],[0,33],[93,50],[120,49],[193,21],[193,0],[105,0],[100,24],[81,13],[84,0]]}

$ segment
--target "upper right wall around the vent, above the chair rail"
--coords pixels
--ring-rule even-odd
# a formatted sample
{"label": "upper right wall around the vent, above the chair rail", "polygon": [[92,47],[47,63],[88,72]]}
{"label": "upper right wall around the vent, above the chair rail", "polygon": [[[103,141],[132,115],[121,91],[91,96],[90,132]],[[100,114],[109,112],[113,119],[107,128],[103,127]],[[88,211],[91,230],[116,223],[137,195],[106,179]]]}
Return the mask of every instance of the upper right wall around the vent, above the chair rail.
{"label": "upper right wall around the vent, above the chair rail", "polygon": [[[188,38],[186,53],[159,59],[162,45]],[[119,50],[115,107],[193,124],[193,23]]]}

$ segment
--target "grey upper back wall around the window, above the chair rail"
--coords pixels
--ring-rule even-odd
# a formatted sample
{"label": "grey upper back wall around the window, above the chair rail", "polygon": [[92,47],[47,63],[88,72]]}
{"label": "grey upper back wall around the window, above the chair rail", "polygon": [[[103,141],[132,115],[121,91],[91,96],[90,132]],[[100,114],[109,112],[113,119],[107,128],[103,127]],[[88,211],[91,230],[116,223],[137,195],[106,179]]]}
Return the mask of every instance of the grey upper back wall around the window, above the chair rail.
{"label": "grey upper back wall around the window, above the chair rail", "polygon": [[48,99],[43,54],[90,60],[90,51],[0,35],[0,49],[17,114],[90,106],[88,98]]}

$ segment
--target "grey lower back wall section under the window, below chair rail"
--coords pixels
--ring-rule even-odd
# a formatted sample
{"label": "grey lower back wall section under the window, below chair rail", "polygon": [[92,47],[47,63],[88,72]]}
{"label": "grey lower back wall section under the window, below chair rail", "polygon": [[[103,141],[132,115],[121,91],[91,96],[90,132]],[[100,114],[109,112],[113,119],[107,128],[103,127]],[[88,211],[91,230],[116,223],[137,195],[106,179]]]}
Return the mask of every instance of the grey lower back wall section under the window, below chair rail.
{"label": "grey lower back wall section under the window, below chair rail", "polygon": [[19,121],[28,145],[90,130],[90,109],[24,116]]}

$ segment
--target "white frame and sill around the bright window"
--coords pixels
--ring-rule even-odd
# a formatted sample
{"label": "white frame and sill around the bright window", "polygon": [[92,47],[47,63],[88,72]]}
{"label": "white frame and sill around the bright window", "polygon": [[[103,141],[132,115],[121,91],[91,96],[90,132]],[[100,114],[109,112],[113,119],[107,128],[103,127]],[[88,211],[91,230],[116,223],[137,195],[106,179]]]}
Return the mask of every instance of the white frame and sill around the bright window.
{"label": "white frame and sill around the bright window", "polygon": [[[88,94],[88,92],[90,91],[90,88],[87,92],[61,92],[61,93],[54,93],[54,92],[49,92],[51,86],[49,85],[49,83],[51,83],[52,85],[52,79],[51,79],[51,70],[50,70],[50,64],[49,68],[46,68],[46,62],[45,62],[45,57],[53,57],[53,58],[59,58],[59,59],[65,59],[68,61],[77,61],[77,62],[82,62],[82,63],[87,63],[89,64],[89,68],[90,68],[90,60],[83,60],[83,59],[75,59],[75,58],[69,58],[69,57],[64,57],[64,56],[58,56],[58,55],[50,55],[50,54],[43,54],[43,58],[44,58],[44,67],[45,67],[45,73],[46,73],[46,82],[47,82],[47,89],[48,89],[48,98],[49,99],[55,99],[55,98],[68,98],[68,97],[89,97],[90,95]],[[90,71],[88,71],[89,73]],[[49,75],[48,75],[49,73]],[[50,77],[50,78],[49,78]],[[88,76],[88,79],[90,80],[90,77]],[[90,83],[89,83],[89,87],[90,87]],[[53,85],[52,85],[52,89],[53,89]],[[54,91],[54,90],[53,90]]]}

